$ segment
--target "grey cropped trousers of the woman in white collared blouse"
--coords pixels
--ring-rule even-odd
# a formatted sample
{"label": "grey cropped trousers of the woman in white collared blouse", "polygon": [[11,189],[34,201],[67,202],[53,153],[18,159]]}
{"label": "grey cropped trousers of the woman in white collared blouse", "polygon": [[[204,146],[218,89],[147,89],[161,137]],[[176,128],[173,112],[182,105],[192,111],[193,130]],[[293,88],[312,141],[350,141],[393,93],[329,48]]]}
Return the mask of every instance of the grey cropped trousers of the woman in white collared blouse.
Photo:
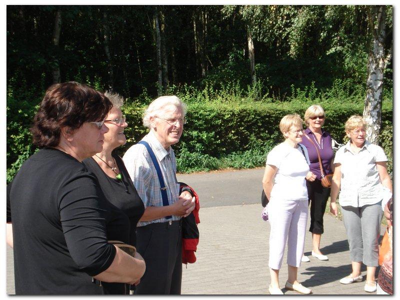
{"label": "grey cropped trousers of the woman in white collared blouse", "polygon": [[378,266],[378,239],[382,207],[380,201],[361,207],[341,206],[351,261]]}

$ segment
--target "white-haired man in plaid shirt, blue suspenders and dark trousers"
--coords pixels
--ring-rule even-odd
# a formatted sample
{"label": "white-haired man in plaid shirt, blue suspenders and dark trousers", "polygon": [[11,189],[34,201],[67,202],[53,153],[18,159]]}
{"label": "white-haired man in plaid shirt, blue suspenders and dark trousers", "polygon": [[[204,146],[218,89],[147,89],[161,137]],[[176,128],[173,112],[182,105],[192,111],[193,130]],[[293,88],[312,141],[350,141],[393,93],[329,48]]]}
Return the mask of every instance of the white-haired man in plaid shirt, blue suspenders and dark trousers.
{"label": "white-haired man in plaid shirt, blue suspenders and dark trousers", "polygon": [[123,155],[145,207],[136,228],[136,248],[143,255],[146,271],[135,294],[180,294],[181,218],[195,203],[189,190],[179,190],[171,145],[182,135],[185,114],[186,104],[178,97],[156,98],[143,115],[143,125],[150,131]]}

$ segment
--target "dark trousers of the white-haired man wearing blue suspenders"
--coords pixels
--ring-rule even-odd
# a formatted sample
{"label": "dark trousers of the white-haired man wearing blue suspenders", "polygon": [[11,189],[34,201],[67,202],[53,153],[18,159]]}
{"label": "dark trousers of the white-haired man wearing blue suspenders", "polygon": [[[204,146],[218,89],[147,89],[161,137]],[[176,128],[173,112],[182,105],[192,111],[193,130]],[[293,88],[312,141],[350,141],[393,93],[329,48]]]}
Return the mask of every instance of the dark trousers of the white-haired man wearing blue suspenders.
{"label": "dark trousers of the white-haired man wearing blue suspenders", "polygon": [[134,294],[180,294],[182,222],[152,223],[136,228],[137,251],[146,271]]}

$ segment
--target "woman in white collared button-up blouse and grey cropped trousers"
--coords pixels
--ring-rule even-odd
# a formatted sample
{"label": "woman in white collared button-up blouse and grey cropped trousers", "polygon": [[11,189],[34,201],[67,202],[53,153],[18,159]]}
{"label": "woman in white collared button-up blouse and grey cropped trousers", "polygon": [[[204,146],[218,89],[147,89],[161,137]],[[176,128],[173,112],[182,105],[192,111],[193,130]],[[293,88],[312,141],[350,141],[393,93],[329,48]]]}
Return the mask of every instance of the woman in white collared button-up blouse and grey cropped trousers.
{"label": "woman in white collared button-up blouse and grey cropped trousers", "polygon": [[345,123],[350,140],[337,150],[333,161],[330,211],[337,215],[336,198],[340,190],[339,204],[350,247],[352,272],[339,282],[362,281],[362,262],[366,265],[364,290],[374,292],[381,205],[390,198],[392,185],[386,169],[386,155],[381,147],[365,140],[365,127],[366,123],[359,115],[350,116]]}

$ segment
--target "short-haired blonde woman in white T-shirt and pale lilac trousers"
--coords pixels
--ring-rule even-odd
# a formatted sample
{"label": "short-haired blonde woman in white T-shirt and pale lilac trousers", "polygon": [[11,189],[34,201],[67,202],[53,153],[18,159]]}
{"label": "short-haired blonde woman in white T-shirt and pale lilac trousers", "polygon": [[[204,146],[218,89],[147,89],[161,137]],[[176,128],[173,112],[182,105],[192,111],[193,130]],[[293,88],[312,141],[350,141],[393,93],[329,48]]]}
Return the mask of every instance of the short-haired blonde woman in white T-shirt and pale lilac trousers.
{"label": "short-haired blonde woman in white T-shirt and pale lilac trousers", "polygon": [[298,114],[285,115],[279,123],[285,141],[276,145],[266,157],[262,178],[269,199],[269,272],[270,294],[283,294],[279,288],[279,269],[287,240],[288,278],[286,289],[308,294],[311,290],[297,281],[297,268],[304,250],[305,227],[308,216],[308,193],[305,176],[309,172],[308,153],[299,144],[302,120]]}

